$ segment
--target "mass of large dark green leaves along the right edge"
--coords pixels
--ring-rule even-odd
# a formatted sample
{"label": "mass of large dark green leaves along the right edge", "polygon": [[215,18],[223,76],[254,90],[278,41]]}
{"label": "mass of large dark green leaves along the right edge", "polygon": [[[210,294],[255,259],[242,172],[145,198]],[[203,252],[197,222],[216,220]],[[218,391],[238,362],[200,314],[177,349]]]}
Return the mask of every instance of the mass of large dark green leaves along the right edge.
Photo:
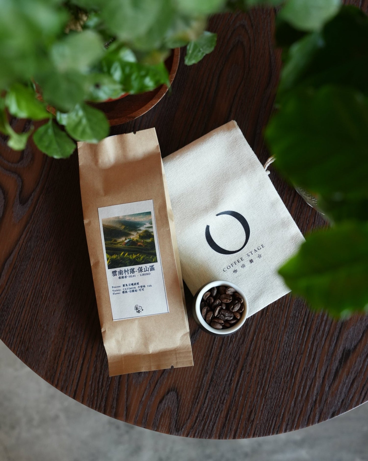
{"label": "mass of large dark green leaves along the right edge", "polygon": [[285,65],[265,137],[274,165],[333,225],[280,274],[311,307],[346,316],[368,309],[368,18],[346,6],[326,22],[333,3],[319,3],[326,14],[308,27],[314,13],[290,20],[291,1],[277,20]]}

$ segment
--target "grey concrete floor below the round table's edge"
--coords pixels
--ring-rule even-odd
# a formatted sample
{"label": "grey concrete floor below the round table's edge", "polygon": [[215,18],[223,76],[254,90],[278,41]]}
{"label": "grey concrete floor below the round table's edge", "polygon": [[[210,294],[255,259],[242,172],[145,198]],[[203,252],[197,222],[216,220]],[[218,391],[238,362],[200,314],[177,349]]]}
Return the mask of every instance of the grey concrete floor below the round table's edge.
{"label": "grey concrete floor below the round table's edge", "polygon": [[368,405],[301,431],[193,440],[114,420],[54,389],[0,341],[0,461],[368,461]]}

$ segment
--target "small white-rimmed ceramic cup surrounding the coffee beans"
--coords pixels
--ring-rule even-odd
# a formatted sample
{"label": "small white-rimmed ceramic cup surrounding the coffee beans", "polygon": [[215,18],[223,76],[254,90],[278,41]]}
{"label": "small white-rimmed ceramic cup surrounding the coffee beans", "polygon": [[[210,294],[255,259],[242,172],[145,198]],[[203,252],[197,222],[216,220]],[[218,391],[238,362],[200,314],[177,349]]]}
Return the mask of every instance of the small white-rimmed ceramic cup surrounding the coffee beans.
{"label": "small white-rimmed ceramic cup surrounding the coffee beans", "polygon": [[[224,285],[226,287],[232,287],[239,293],[239,295],[242,295],[242,298],[244,300],[243,301],[244,310],[242,312],[242,317],[234,326],[230,326],[230,328],[225,328],[224,330],[216,330],[215,328],[212,328],[211,325],[208,325],[206,320],[203,319],[202,313],[201,313],[201,301],[206,291],[209,291],[211,290],[211,288],[218,287],[221,285]],[[212,335],[216,335],[216,336],[230,335],[231,333],[238,331],[239,328],[242,328],[242,326],[244,325],[244,322],[247,319],[248,311],[249,311],[248,300],[247,300],[247,296],[245,296],[244,291],[241,290],[237,285],[232,284],[231,282],[226,282],[225,280],[215,280],[214,282],[210,282],[209,284],[204,285],[200,290],[197,291],[196,296],[194,297],[194,300],[193,300],[193,316],[197,324],[202,328],[202,330],[205,330],[208,333]]]}

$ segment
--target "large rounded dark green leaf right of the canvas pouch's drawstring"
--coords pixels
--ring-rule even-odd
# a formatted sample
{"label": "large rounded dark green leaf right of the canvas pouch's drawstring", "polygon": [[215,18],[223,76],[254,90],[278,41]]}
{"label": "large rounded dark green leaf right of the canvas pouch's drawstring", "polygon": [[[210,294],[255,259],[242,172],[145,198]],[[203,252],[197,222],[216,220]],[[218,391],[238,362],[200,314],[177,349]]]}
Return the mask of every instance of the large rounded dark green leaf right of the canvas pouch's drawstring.
{"label": "large rounded dark green leaf right of the canvas pouch's drawstring", "polygon": [[352,89],[294,92],[266,132],[274,165],[294,184],[326,196],[368,192],[368,102]]}

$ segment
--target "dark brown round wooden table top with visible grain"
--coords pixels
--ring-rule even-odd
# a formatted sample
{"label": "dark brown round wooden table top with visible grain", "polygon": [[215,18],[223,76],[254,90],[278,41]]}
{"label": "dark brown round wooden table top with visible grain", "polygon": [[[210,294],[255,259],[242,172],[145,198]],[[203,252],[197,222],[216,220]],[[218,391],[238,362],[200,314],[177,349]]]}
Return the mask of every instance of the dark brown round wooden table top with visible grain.
{"label": "dark brown round wooden table top with visible grain", "polygon": [[[361,6],[367,12],[368,2]],[[274,12],[263,9],[213,18],[216,50],[191,67],[182,53],[172,93],[111,134],[154,126],[165,156],[235,119],[265,162],[262,129],[280,71],[273,23]],[[302,232],[325,225],[275,171],[270,177]],[[368,318],[336,322],[291,296],[219,338],[196,326],[186,290],[195,365],[109,378],[77,155],[51,160],[35,148],[14,153],[2,142],[0,217],[0,337],[42,378],[90,408],[170,434],[239,438],[316,424],[368,399]]]}

